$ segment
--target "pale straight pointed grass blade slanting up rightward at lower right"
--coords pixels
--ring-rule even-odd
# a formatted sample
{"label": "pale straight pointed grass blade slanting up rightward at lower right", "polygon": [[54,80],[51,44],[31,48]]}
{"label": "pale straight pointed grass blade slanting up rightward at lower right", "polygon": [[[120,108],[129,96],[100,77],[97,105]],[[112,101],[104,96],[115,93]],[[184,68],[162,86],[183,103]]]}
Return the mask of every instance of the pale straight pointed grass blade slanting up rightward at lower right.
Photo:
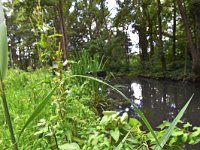
{"label": "pale straight pointed grass blade slanting up rightward at lower right", "polygon": [[181,119],[181,117],[183,116],[185,110],[187,109],[188,105],[190,104],[192,98],[193,98],[194,94],[192,94],[192,96],[190,97],[190,99],[188,100],[188,102],[185,104],[185,106],[181,109],[181,111],[178,113],[178,115],[176,116],[176,118],[173,120],[173,122],[171,123],[171,125],[168,127],[168,129],[165,131],[164,135],[159,139],[160,142],[160,146],[156,146],[155,150],[161,150],[163,148],[163,146],[167,143],[170,135],[172,134],[174,128],[176,127],[176,124],[178,123],[178,121]]}

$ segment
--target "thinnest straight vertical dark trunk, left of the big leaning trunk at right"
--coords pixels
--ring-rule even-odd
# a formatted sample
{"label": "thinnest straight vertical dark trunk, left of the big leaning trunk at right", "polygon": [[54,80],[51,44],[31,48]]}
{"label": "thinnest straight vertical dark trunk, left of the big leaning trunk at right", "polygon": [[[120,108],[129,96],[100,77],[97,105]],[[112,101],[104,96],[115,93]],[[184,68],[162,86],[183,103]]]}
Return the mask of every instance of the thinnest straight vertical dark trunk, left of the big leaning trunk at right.
{"label": "thinnest straight vertical dark trunk, left of the big leaning trunk at right", "polygon": [[173,49],[172,49],[172,59],[176,60],[176,0],[173,1]]}

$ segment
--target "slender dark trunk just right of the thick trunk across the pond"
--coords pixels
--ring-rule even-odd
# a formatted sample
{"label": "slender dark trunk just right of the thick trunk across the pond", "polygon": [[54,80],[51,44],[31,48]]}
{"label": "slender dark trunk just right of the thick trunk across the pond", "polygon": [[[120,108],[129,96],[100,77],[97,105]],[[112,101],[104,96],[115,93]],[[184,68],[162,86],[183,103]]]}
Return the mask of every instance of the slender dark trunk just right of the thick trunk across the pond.
{"label": "slender dark trunk just right of the thick trunk across the pond", "polygon": [[158,30],[159,30],[159,49],[160,49],[160,60],[162,63],[162,69],[163,71],[166,70],[166,60],[165,60],[165,54],[164,54],[164,47],[163,47],[163,39],[162,39],[162,18],[161,18],[161,2],[160,0],[157,0],[157,15],[158,15]]}

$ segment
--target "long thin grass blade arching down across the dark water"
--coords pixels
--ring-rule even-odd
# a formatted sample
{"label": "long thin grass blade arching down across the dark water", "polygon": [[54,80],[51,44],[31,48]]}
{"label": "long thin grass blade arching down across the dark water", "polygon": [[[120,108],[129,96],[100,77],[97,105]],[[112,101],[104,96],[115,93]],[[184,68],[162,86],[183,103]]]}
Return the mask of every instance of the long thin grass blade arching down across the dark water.
{"label": "long thin grass blade arching down across the dark water", "polygon": [[97,82],[100,82],[104,85],[107,85],[108,87],[112,88],[113,90],[117,91],[125,100],[127,100],[131,105],[133,105],[134,109],[136,110],[136,112],[139,114],[140,118],[142,119],[142,121],[144,122],[144,124],[146,125],[147,129],[151,132],[152,136],[154,137],[154,139],[156,140],[156,143],[158,145],[160,145],[160,142],[158,141],[155,133],[154,133],[154,130],[153,128],[151,127],[149,121],[147,120],[147,118],[145,117],[145,115],[142,113],[142,111],[137,108],[137,106],[128,98],[126,97],[121,91],[119,91],[117,88],[113,87],[112,85],[100,80],[100,79],[97,79],[97,78],[94,78],[94,77],[90,77],[90,76],[84,76],[84,75],[73,75],[73,77],[81,77],[81,78],[87,78],[87,79],[91,79],[91,80],[95,80]]}

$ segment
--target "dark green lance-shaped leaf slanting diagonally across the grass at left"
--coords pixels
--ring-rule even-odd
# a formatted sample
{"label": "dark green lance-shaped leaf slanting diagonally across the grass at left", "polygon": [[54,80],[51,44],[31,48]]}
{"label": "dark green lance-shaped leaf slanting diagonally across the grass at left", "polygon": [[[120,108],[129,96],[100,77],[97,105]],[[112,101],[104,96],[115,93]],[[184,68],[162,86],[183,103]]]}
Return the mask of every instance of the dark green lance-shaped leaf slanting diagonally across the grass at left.
{"label": "dark green lance-shaped leaf slanting diagonally across the grass at left", "polygon": [[26,121],[24,127],[22,128],[20,134],[19,134],[19,138],[22,135],[22,133],[24,132],[24,130],[27,128],[27,126],[36,118],[39,116],[39,114],[42,112],[42,110],[44,109],[44,107],[47,105],[48,101],[50,100],[51,96],[53,95],[54,91],[57,89],[58,86],[55,86],[48,94],[47,96],[44,98],[44,100],[38,105],[38,107],[35,109],[35,111],[31,114],[31,116],[29,117],[29,119]]}

